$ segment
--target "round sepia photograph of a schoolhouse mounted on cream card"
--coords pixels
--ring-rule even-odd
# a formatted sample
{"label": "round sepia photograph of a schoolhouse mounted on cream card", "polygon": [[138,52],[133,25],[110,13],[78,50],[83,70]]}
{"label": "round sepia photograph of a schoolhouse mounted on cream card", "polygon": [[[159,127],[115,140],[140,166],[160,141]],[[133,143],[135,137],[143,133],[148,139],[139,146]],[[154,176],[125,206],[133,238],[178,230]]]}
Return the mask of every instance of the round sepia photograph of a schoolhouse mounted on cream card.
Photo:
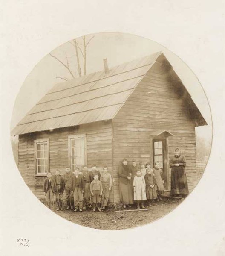
{"label": "round sepia photograph of a schoolhouse mounted on cream card", "polygon": [[211,152],[204,89],[176,53],[137,35],[74,38],[26,77],[11,121],[30,191],[76,224],[121,230],[167,215]]}

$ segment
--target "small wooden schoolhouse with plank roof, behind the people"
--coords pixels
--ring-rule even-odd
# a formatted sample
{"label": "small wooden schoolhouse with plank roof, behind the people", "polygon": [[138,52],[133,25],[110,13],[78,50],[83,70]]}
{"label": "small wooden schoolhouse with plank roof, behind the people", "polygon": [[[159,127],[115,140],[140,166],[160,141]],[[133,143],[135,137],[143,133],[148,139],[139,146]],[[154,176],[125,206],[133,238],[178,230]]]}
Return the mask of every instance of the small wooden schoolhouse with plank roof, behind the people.
{"label": "small wooden schoolhouse with plank roof, behind the people", "polygon": [[119,202],[118,166],[159,161],[170,190],[169,158],[186,156],[190,191],[197,182],[195,127],[207,125],[162,52],[56,84],[12,130],[19,135],[19,170],[38,197],[48,171],[104,165]]}

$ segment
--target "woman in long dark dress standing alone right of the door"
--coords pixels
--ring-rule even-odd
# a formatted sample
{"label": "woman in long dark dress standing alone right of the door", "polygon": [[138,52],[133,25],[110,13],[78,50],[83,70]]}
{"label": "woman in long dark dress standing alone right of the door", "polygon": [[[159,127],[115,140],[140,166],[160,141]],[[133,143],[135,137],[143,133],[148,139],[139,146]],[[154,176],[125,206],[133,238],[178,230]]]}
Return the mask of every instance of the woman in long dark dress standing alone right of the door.
{"label": "woman in long dark dress standing alone right of the door", "polygon": [[186,159],[181,155],[180,149],[175,149],[175,155],[170,158],[171,167],[171,190],[173,196],[188,195],[187,176],[185,173]]}

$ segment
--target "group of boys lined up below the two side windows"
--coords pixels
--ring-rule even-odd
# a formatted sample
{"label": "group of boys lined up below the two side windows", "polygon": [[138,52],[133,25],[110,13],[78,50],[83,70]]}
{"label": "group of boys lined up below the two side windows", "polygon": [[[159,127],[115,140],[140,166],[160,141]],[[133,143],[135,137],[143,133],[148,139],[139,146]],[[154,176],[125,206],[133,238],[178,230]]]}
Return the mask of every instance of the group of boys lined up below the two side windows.
{"label": "group of boys lined up below the two side windows", "polygon": [[44,181],[46,205],[52,209],[55,194],[57,211],[63,210],[63,192],[65,191],[67,210],[82,212],[92,208],[95,212],[97,208],[101,212],[107,206],[111,187],[112,177],[108,173],[107,166],[104,166],[102,174],[97,171],[96,165],[92,166],[92,171],[88,171],[87,165],[83,165],[82,171],[75,167],[73,172],[70,167],[66,167],[63,177],[59,170],[56,170],[54,177],[51,172],[47,173]]}

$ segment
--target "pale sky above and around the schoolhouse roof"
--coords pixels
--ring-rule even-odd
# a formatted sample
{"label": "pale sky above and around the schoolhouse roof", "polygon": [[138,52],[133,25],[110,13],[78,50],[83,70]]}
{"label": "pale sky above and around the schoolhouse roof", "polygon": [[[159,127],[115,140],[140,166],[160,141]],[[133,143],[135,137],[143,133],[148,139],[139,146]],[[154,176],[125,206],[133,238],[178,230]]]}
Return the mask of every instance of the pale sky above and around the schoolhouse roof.
{"label": "pale sky above and around the schoolhouse roof", "polygon": [[[87,35],[86,40],[88,41],[93,35],[94,38],[87,47],[87,74],[103,70],[104,58],[107,58],[110,68],[123,62],[162,51],[208,123],[208,126],[196,128],[198,136],[205,138],[206,141],[211,141],[212,125],[208,100],[195,74],[193,74],[190,68],[178,56],[162,45],[136,35],[106,32]],[[82,39],[77,38],[77,41],[82,47]],[[65,56],[67,56],[73,73],[75,76],[78,76],[75,47],[72,44],[69,42],[62,44],[55,50],[52,50],[51,53],[63,62],[66,62]],[[82,62],[81,54],[79,58]],[[83,71],[83,63],[81,63],[81,68]],[[64,82],[62,79],[56,79],[55,77],[72,79],[66,68],[48,54],[40,60],[23,82],[14,104],[11,122],[12,128],[16,126],[23,116],[26,115],[53,85]]]}

